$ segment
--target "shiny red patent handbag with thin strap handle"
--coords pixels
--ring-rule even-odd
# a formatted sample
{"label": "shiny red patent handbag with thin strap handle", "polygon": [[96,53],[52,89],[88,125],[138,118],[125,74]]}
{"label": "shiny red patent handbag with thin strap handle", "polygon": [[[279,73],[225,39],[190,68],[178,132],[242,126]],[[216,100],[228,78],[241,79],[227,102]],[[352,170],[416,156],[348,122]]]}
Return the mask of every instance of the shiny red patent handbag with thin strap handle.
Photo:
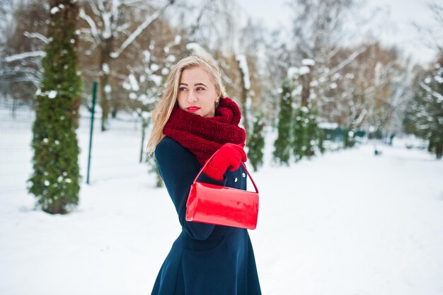
{"label": "shiny red patent handbag with thin strap handle", "polygon": [[191,185],[186,202],[186,221],[255,229],[258,217],[258,189],[246,166],[243,163],[241,166],[248,173],[255,192],[200,183],[197,181],[202,173],[200,170]]}

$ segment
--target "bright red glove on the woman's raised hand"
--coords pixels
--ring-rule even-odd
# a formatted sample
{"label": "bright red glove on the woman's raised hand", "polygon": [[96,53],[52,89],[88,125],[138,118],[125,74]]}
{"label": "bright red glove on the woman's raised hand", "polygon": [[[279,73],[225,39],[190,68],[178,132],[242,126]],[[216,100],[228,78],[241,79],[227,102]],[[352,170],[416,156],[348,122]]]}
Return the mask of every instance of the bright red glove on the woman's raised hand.
{"label": "bright red glove on the woman's raised hand", "polygon": [[242,161],[246,162],[244,146],[245,144],[224,144],[207,163],[203,173],[210,178],[223,180],[223,174],[226,170],[237,170]]}

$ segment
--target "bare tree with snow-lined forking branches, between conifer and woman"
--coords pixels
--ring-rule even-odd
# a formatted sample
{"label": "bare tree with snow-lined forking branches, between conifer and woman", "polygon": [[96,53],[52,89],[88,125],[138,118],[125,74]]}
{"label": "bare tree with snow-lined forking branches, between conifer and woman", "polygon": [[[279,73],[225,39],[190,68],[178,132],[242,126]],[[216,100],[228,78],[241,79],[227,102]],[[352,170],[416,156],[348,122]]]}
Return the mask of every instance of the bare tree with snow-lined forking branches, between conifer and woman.
{"label": "bare tree with snow-lined forking branches, between conifer and woman", "polygon": [[[173,4],[174,0],[168,0],[160,8],[154,9],[140,0],[83,1],[84,7],[80,10],[80,17],[87,23],[88,28],[82,31],[92,43],[90,54],[98,51],[103,131],[108,129],[110,93],[113,91],[110,84],[113,61],[122,57],[127,48],[133,46],[137,38]],[[133,16],[138,17],[131,18]]]}

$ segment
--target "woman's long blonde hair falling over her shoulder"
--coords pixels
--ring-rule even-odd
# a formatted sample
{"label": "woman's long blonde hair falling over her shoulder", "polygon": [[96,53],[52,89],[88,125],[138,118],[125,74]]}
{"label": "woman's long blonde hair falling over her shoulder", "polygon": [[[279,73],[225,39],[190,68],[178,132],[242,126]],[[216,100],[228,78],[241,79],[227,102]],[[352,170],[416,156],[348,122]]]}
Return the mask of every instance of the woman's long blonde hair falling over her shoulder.
{"label": "woman's long blonde hair falling over her shoulder", "polygon": [[171,112],[176,105],[178,84],[180,83],[180,76],[184,69],[190,69],[196,66],[201,66],[209,74],[212,83],[214,83],[215,91],[220,99],[225,97],[225,90],[222,84],[222,75],[219,66],[215,59],[204,50],[199,50],[198,53],[192,53],[188,57],[180,59],[171,69],[166,80],[166,89],[161,96],[161,100],[152,111],[152,128],[151,137],[149,137],[146,151],[152,154],[156,149],[157,144],[165,137],[163,134],[163,127],[168,122]]}

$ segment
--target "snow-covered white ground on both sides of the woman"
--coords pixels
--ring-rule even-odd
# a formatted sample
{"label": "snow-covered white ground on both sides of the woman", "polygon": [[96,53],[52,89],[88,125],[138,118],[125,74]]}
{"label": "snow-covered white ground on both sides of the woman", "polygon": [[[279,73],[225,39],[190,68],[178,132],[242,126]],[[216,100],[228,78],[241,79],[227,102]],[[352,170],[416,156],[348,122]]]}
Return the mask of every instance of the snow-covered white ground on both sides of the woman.
{"label": "snow-covered white ground on both sides of the woman", "polygon": [[[150,294],[180,226],[138,163],[138,126],[112,127],[96,132],[79,207],[51,216],[25,190],[30,123],[1,122],[1,295]],[[85,180],[85,120],[79,140]],[[443,294],[443,161],[394,139],[381,156],[364,144],[277,167],[267,147],[250,231],[263,294]]]}

